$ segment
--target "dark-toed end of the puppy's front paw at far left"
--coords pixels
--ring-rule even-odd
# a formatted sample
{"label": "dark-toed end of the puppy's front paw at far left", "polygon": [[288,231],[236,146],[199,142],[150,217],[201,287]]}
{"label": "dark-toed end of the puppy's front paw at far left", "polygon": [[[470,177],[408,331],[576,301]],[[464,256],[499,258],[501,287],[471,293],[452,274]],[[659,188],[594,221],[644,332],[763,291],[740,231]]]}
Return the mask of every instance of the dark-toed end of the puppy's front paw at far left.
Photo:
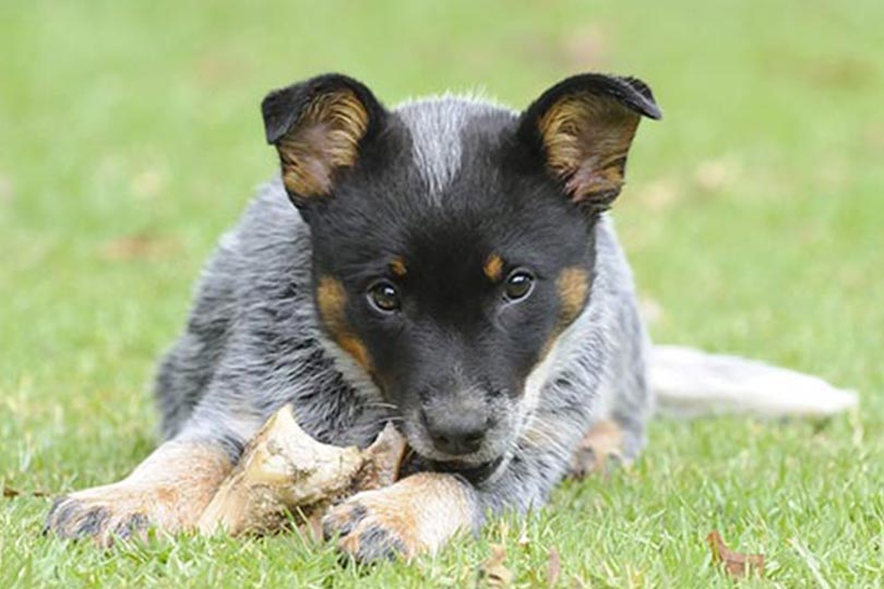
{"label": "dark-toed end of the puppy's front paw at far left", "polygon": [[155,515],[157,501],[124,483],[97,486],[58,497],[44,524],[44,533],[61,538],[94,538],[110,544],[114,538],[145,532]]}

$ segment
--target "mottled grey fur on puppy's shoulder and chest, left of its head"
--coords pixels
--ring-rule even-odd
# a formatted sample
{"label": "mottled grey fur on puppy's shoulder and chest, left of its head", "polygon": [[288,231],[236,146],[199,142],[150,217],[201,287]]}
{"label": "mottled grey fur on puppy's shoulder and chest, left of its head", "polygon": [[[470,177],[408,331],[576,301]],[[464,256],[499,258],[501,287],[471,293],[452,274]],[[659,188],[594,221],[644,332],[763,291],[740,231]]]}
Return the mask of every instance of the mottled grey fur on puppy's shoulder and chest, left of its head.
{"label": "mottled grey fur on puppy's shoulder and chest, left of its head", "polygon": [[222,441],[232,457],[286,402],[314,437],[368,444],[389,410],[320,330],[309,229],[282,182],[263,187],[220,240],[156,397],[166,438]]}

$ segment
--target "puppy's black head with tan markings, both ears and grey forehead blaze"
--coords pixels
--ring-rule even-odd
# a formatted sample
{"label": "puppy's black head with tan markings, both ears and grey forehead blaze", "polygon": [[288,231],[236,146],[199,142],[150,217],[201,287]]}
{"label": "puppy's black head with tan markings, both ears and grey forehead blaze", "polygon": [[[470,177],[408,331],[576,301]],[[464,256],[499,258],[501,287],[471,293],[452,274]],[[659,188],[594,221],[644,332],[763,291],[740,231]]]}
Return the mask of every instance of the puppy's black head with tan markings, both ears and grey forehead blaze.
{"label": "puppy's black head with tan markings, both ears and grey forehead blaze", "polygon": [[585,74],[517,113],[443,97],[386,110],[324,75],[262,105],[310,224],[318,314],[422,456],[513,447],[557,339],[590,293],[594,225],[619,194],[648,87]]}

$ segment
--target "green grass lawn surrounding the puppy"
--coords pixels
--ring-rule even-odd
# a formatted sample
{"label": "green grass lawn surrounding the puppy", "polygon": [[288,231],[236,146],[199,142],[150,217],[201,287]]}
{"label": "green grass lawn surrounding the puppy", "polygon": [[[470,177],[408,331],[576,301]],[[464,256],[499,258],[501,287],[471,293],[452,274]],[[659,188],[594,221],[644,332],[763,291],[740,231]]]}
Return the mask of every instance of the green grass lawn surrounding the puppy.
{"label": "green grass lawn surrounding the puppy", "polygon": [[[552,548],[563,587],[730,587],[713,529],[766,555],[760,586],[884,586],[884,3],[254,4],[0,4],[0,478],[22,492],[0,500],[0,587],[465,587],[501,542],[519,587]],[[856,416],[659,420],[629,471],[408,566],[295,536],[39,536],[31,492],[110,482],[154,445],[154,361],[276,169],[268,88],[337,70],[389,104],[524,106],[589,69],[640,75],[666,113],[616,212],[655,338],[817,373],[861,392]]]}

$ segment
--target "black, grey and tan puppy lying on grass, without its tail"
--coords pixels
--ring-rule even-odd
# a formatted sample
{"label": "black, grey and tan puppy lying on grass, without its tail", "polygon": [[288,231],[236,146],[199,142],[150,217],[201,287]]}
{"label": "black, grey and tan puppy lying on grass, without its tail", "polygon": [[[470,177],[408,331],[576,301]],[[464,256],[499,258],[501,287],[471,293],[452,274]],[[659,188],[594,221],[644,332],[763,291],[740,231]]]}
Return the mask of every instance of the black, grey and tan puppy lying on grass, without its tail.
{"label": "black, grey and tan puppy lying on grass, without its tail", "polygon": [[192,528],[287,402],[322,442],[366,446],[393,421],[415,450],[414,473],[325,519],[360,561],[542,505],[600,421],[635,458],[650,348],[606,211],[638,122],[660,118],[646,84],[583,74],[522,112],[453,96],[390,110],[330,74],[262,111],[282,175],[222,238],[162,361],[166,441],[58,500],[47,530]]}

